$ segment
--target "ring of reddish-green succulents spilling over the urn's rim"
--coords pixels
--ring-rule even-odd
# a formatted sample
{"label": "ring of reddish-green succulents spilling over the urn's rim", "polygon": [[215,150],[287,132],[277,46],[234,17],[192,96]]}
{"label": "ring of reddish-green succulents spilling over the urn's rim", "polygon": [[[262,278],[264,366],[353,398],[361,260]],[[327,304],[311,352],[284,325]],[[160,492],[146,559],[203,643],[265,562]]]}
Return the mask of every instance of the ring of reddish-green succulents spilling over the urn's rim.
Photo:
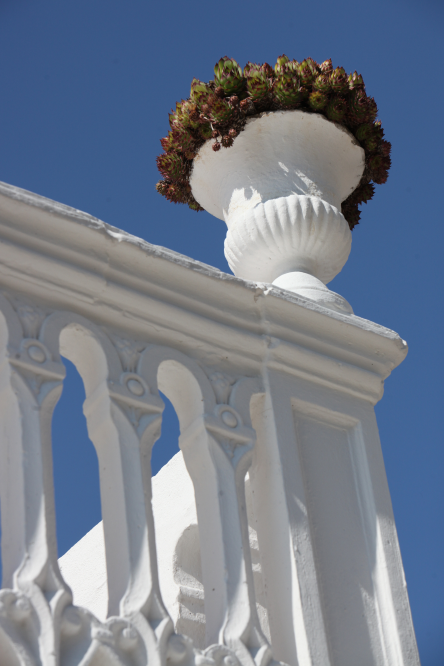
{"label": "ring of reddish-green succulents spilling over the urn's rim", "polygon": [[276,65],[248,62],[242,69],[224,56],[214,67],[214,79],[191,82],[190,96],[177,102],[169,115],[170,131],[161,139],[163,154],[157,157],[162,180],[157,191],[168,201],[203,208],[194,199],[189,178],[193,159],[201,146],[213,140],[213,150],[228,149],[244,129],[247,119],[263,111],[301,109],[320,113],[351,131],[365,152],[365,169],[358,187],[342,203],[350,229],[360,219],[359,206],[374,195],[374,185],[387,181],[391,144],[386,141],[378,109],[368,97],[362,76],[321,64],[312,58],[301,62],[285,54]]}

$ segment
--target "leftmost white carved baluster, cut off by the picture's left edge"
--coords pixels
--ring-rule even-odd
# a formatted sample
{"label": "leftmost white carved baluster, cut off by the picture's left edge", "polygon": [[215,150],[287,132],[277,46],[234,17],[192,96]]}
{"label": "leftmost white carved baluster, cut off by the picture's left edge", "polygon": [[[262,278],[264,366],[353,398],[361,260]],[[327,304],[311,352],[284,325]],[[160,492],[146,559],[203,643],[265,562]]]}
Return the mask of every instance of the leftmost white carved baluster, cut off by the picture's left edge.
{"label": "leftmost white carved baluster, cut off by the picture's left edge", "polygon": [[[71,602],[57,564],[51,419],[65,368],[38,339],[46,314],[1,299],[0,370],[3,631],[24,664],[57,663],[61,614]],[[4,339],[6,343],[6,339]],[[12,596],[11,596],[12,595]],[[24,596],[26,595],[26,596]]]}

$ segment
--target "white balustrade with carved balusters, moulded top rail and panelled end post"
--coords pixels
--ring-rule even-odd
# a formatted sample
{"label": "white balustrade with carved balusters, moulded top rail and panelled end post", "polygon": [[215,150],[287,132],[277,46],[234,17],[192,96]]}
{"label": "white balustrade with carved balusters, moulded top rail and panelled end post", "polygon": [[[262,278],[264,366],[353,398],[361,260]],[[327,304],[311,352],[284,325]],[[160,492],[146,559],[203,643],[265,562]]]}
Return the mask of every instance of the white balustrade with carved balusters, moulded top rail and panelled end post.
{"label": "white balustrade with carved balusters, moulded top rail and panelled end post", "polygon": [[[405,343],[6,185],[0,240],[1,666],[418,664],[373,411]],[[82,376],[99,459],[104,622],[73,605],[57,560],[61,355]],[[196,497],[203,649],[176,633],[160,593],[159,389]]]}

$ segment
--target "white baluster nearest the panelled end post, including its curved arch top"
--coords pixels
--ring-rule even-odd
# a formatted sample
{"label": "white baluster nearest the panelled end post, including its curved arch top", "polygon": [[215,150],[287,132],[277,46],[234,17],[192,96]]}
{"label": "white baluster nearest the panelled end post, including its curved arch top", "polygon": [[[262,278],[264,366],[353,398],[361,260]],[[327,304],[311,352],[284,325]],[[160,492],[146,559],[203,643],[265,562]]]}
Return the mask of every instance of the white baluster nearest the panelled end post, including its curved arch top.
{"label": "white baluster nearest the panelled end post, including its curved arch top", "polygon": [[225,391],[225,402],[216,403],[201,368],[174,350],[148,350],[141,367],[151,386],[160,367],[160,386],[179,416],[179,443],[196,496],[207,644],[226,645],[243,664],[268,664],[272,652],[257,615],[245,503],[255,444],[249,401],[259,389],[241,380],[229,387],[229,400]]}

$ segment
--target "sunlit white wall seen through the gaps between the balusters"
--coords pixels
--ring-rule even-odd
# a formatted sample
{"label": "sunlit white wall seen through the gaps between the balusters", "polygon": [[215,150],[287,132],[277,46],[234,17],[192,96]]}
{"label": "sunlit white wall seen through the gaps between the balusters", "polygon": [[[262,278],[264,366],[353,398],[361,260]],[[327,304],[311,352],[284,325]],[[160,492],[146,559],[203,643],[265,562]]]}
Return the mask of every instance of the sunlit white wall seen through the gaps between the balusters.
{"label": "sunlit white wall seen through the gaps between the balusters", "polygon": [[[224,412],[231,414],[231,412]],[[261,626],[269,638],[266,595],[260,567],[250,484],[247,503],[254,561],[254,583]],[[153,477],[159,582],[165,606],[176,631],[205,647],[205,607],[200,541],[194,489],[182,453],[177,453]],[[106,621],[108,589],[102,522],[59,559],[60,571],[73,592],[73,602]]]}

